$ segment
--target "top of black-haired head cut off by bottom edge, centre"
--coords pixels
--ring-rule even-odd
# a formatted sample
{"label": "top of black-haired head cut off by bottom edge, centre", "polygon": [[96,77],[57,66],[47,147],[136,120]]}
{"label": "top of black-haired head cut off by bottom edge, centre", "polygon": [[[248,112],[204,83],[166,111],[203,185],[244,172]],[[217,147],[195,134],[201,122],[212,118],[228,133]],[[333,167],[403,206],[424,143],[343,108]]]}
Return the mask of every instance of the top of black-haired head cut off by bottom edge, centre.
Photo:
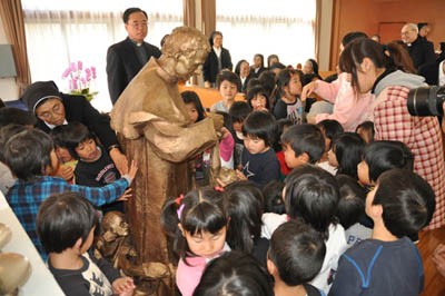
{"label": "top of black-haired head cut off by bottom edge, centre", "polygon": [[194,296],[274,295],[274,283],[258,260],[243,251],[227,251],[207,266]]}

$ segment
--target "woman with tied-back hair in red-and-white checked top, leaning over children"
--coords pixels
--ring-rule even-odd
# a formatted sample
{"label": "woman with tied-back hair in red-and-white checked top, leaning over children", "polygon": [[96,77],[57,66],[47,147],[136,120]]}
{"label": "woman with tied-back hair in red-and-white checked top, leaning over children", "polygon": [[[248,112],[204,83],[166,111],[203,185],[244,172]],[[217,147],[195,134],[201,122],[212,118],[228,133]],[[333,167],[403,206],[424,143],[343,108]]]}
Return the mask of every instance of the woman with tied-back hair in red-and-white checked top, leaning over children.
{"label": "woman with tied-back hair in red-and-white checked top, leaning over children", "polygon": [[[393,59],[397,53],[400,52],[392,51],[386,56],[382,45],[370,39],[357,39],[342,52],[339,66],[342,71],[352,73],[352,85],[357,92],[365,93],[370,90],[376,96],[372,111],[375,139],[398,140],[412,150],[415,172],[429,182],[436,195],[436,210],[427,227],[434,229],[445,225],[442,131],[436,117],[427,116],[427,112],[423,112],[422,117],[409,114],[407,99],[411,89],[417,90],[427,85],[423,77],[398,69]],[[417,103],[422,97],[431,98],[431,96],[417,96],[415,100],[411,99],[411,102]],[[428,107],[428,103],[421,105]],[[442,100],[438,106],[441,105]],[[417,106],[414,107],[416,108]]]}

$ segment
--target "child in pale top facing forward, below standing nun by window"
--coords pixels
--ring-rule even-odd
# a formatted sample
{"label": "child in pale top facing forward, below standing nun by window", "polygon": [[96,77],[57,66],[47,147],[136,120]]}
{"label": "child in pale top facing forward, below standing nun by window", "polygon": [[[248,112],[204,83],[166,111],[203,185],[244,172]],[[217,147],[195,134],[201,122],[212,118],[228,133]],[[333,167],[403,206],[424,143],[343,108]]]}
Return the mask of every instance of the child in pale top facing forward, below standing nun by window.
{"label": "child in pale top facing forward, below standing nun by window", "polygon": [[233,71],[222,70],[220,73],[218,73],[217,86],[222,100],[214,103],[210,107],[210,111],[228,112],[235,101],[235,96],[240,90],[241,80]]}

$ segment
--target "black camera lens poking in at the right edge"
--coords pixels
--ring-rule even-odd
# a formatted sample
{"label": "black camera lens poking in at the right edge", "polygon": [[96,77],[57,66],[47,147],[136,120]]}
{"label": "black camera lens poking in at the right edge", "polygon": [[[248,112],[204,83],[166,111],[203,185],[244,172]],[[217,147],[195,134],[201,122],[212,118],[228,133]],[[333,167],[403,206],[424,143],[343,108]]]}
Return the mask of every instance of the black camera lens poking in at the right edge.
{"label": "black camera lens poking in at the right edge", "polygon": [[445,87],[421,87],[409,90],[407,107],[412,116],[443,116]]}

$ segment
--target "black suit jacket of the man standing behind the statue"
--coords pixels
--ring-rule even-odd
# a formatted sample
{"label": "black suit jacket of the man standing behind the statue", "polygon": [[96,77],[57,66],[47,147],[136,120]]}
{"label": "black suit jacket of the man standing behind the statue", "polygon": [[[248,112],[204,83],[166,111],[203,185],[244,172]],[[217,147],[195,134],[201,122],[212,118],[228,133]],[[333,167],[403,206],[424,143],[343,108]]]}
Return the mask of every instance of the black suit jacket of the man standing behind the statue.
{"label": "black suit jacket of the man standing behind the statue", "polygon": [[[159,48],[144,42],[142,43],[148,60],[151,57],[159,58],[161,52]],[[107,52],[107,77],[108,90],[112,105],[116,103],[120,93],[126,89],[131,79],[142,69],[144,63],[138,59],[136,45],[127,38],[108,48]],[[147,60],[147,61],[148,61]]]}

